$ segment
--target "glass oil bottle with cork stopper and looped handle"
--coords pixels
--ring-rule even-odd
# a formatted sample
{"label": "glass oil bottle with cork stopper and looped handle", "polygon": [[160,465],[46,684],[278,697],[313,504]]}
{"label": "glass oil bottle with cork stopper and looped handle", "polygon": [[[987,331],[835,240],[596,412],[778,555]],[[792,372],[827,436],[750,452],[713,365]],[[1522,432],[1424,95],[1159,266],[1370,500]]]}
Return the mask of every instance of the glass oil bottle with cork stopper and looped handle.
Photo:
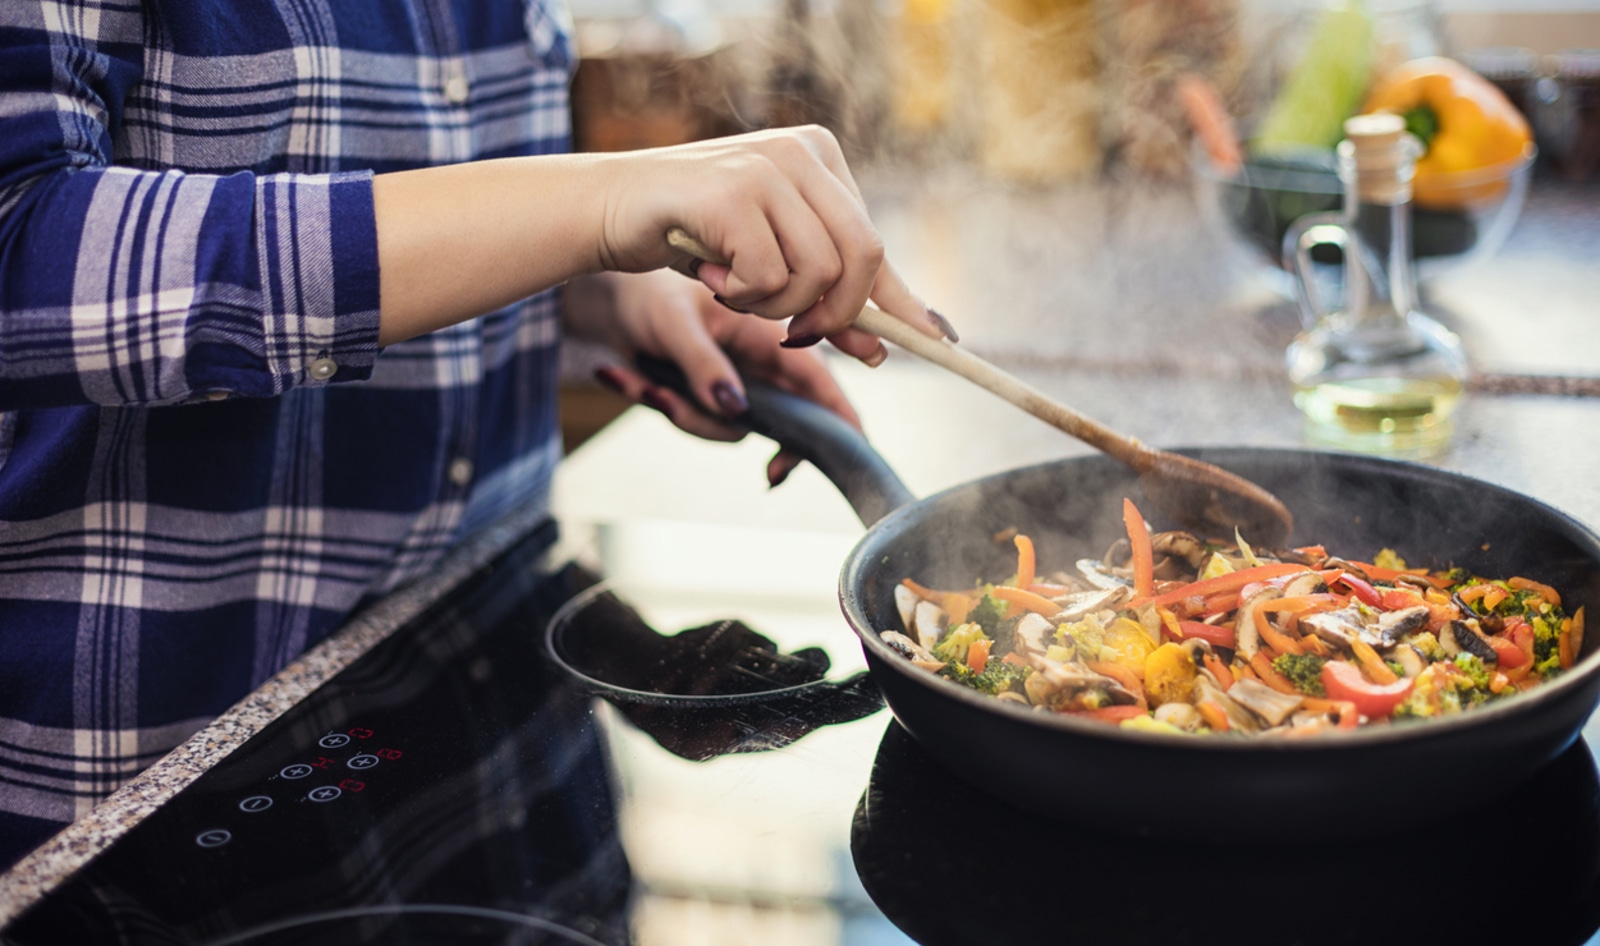
{"label": "glass oil bottle with cork stopper and looped handle", "polygon": [[[1426,458],[1448,447],[1467,359],[1461,339],[1418,311],[1411,261],[1411,178],[1421,142],[1398,115],[1344,125],[1344,210],[1301,218],[1283,239],[1304,331],[1288,349],[1294,403],[1309,442]],[[1342,299],[1328,306],[1312,251],[1342,256]]]}

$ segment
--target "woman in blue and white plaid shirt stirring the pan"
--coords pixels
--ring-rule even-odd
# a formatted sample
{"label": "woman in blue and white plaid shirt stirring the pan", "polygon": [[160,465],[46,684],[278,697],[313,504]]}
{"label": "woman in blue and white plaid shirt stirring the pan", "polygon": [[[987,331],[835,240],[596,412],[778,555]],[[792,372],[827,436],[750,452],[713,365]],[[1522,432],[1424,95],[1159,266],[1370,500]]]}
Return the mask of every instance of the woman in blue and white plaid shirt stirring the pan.
{"label": "woman in blue and white plaid shirt stirring the pan", "polygon": [[[936,333],[826,131],[563,154],[568,37],[546,0],[0,5],[0,866],[541,503],[563,328],[677,360],[704,411],[605,379],[723,439],[730,355],[854,419],[803,349],[882,360],[869,296]],[[731,267],[662,271],[670,226]]]}

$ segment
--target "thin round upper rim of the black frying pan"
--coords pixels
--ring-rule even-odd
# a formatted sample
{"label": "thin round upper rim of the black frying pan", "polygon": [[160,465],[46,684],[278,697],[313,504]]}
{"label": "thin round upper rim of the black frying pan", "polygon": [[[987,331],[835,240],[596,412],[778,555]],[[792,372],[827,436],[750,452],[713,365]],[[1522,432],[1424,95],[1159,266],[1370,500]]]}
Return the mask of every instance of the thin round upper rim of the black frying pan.
{"label": "thin round upper rim of the black frying pan", "polygon": [[[1208,461],[1218,463],[1218,466],[1227,467],[1227,456],[1243,456],[1243,455],[1275,455],[1275,456],[1298,456],[1298,458],[1334,458],[1344,463],[1370,463],[1374,466],[1392,467],[1395,471],[1405,471],[1411,475],[1426,477],[1430,480],[1454,480],[1462,485],[1470,485],[1474,488],[1490,490],[1499,493],[1507,499],[1515,499],[1523,507],[1538,509],[1547,515],[1552,523],[1560,523],[1568,538],[1576,544],[1587,544],[1590,559],[1600,567],[1600,531],[1582,520],[1570,515],[1541,499],[1528,496],[1526,493],[1518,493],[1509,487],[1499,483],[1491,483],[1488,480],[1456,472],[1442,467],[1432,467],[1421,463],[1389,459],[1381,456],[1370,456],[1362,453],[1346,453],[1334,450],[1310,450],[1310,448],[1291,448],[1291,447],[1237,447],[1237,445],[1206,445],[1206,447],[1176,447],[1170,448],[1173,453],[1182,453],[1187,456],[1203,455]],[[1494,720],[1506,717],[1520,717],[1523,714],[1534,714],[1550,703],[1560,703],[1563,699],[1573,698],[1576,691],[1586,690],[1595,685],[1595,677],[1600,675],[1600,647],[1592,647],[1587,656],[1579,658],[1573,667],[1563,672],[1558,679],[1544,683],[1534,690],[1517,695],[1515,698],[1499,701],[1493,706],[1475,707],[1461,714],[1451,714],[1440,719],[1421,720],[1416,724],[1403,725],[1382,725],[1382,727],[1362,727],[1355,732],[1334,732],[1323,733],[1310,740],[1282,740],[1282,738],[1235,738],[1235,740],[1211,740],[1197,738],[1192,735],[1176,735],[1176,733],[1152,733],[1142,730],[1125,730],[1122,727],[1106,725],[1102,722],[1075,719],[1070,716],[1040,712],[1032,707],[1021,707],[1006,704],[1005,701],[995,699],[973,691],[968,687],[946,680],[936,674],[930,674],[918,667],[910,666],[906,658],[894,653],[878,634],[867,634],[866,613],[861,610],[859,599],[851,592],[858,587],[858,581],[867,571],[867,551],[875,544],[874,536],[880,536],[885,531],[891,531],[893,525],[917,515],[928,504],[933,504],[947,496],[954,496],[965,491],[973,491],[986,483],[1026,475],[1030,471],[1045,469],[1061,469],[1062,466],[1118,466],[1114,459],[1101,455],[1078,455],[1064,456],[1053,461],[1043,461],[1035,464],[1027,464],[1014,469],[1008,469],[997,474],[989,474],[976,480],[949,487],[926,498],[917,499],[907,506],[902,506],[891,514],[885,515],[882,520],[874,523],[870,530],[851,547],[840,568],[838,578],[838,600],[840,610],[843,610],[845,618],[850,624],[851,632],[862,642],[869,655],[877,656],[886,666],[893,667],[893,672],[899,674],[907,680],[914,680],[920,687],[931,687],[936,693],[954,696],[960,704],[971,709],[979,709],[984,712],[1003,714],[1003,719],[1013,719],[1037,725],[1043,730],[1059,730],[1066,733],[1074,733],[1080,736],[1090,736],[1094,740],[1110,741],[1110,743],[1130,743],[1134,746],[1158,748],[1163,751],[1182,749],[1194,752],[1330,752],[1344,749],[1360,749],[1371,746],[1384,746],[1390,743],[1413,743],[1426,741],[1432,738],[1448,738],[1461,733],[1462,730],[1475,730],[1493,724]],[[904,666],[902,666],[904,664]],[[893,703],[891,703],[893,709]],[[1590,709],[1592,714],[1592,709]],[[1587,717],[1586,717],[1587,719]],[[1579,727],[1581,732],[1581,727]],[[1574,733],[1573,738],[1578,738]]]}

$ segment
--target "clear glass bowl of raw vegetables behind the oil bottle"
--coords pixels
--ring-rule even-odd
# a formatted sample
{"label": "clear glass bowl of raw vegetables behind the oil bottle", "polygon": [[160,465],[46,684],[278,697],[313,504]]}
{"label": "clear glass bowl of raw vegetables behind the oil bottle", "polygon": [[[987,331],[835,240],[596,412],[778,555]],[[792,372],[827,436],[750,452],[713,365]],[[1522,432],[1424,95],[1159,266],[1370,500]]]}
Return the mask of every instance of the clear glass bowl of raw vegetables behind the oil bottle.
{"label": "clear glass bowl of raw vegetables behind the oil bottle", "polygon": [[[1509,162],[1435,174],[1416,184],[1411,247],[1418,279],[1429,282],[1469,263],[1490,258],[1510,235],[1528,198],[1536,152]],[[1200,205],[1213,229],[1243,242],[1262,263],[1264,279],[1282,295],[1293,283],[1282,264],[1283,234],[1307,213],[1336,211],[1344,203],[1331,150],[1250,157],[1237,171],[1219,168],[1203,147],[1190,152]],[[1338,250],[1322,248],[1336,263]]]}

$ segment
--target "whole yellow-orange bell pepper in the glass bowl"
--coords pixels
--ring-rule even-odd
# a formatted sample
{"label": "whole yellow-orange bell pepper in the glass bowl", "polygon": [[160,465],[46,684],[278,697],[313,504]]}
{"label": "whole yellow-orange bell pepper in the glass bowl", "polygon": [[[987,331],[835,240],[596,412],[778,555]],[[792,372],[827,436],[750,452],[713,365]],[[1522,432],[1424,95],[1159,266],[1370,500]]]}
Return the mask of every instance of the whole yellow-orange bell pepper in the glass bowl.
{"label": "whole yellow-orange bell pepper in the glass bowl", "polygon": [[[1493,200],[1502,178],[1470,171],[1522,160],[1533,142],[1528,120],[1501,90],[1454,59],[1413,59],[1382,75],[1363,112],[1394,112],[1422,139],[1413,200],[1419,206],[1461,208]],[[1493,176],[1488,174],[1486,176]]]}

